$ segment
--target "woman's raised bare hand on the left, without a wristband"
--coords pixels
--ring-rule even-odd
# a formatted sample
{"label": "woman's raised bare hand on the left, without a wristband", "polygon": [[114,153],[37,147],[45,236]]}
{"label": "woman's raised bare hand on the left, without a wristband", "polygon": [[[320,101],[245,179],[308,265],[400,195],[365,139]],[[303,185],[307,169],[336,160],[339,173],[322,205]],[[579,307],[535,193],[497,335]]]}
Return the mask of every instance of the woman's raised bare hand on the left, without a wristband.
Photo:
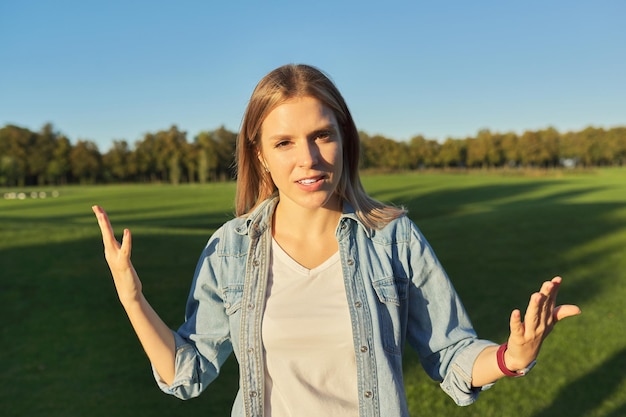
{"label": "woman's raised bare hand on the left, without a wristband", "polygon": [[115,289],[122,305],[139,301],[141,298],[141,281],[130,261],[132,237],[130,230],[124,229],[120,244],[113,234],[113,228],[106,212],[100,206],[91,208],[98,219],[102,242],[104,243],[104,257],[113,275]]}

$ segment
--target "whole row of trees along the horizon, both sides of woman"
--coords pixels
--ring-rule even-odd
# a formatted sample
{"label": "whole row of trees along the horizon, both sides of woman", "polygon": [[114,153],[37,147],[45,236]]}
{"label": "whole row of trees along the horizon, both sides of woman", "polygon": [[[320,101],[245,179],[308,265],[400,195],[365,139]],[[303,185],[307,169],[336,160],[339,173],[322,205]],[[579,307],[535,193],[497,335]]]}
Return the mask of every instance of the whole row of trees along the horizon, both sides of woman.
{"label": "whole row of trees along the horizon, both sides of woman", "polygon": [[[521,135],[481,130],[443,143],[423,136],[396,141],[360,132],[360,137],[362,169],[626,165],[626,127],[566,133],[547,128]],[[188,141],[186,132],[172,126],[145,134],[132,147],[114,141],[101,153],[89,140],[72,144],[51,124],[39,132],[6,125],[0,128],[0,186],[229,180],[236,138],[222,126]]]}

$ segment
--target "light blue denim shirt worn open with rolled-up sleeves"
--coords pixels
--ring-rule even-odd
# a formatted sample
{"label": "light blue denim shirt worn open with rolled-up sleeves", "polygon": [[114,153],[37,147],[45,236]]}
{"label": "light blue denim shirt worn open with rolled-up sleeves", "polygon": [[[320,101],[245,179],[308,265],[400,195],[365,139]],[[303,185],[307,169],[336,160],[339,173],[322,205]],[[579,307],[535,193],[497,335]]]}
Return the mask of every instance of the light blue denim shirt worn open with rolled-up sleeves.
{"label": "light blue denim shirt worn open with rolled-up sleeves", "polygon": [[[231,352],[239,362],[233,417],[263,416],[261,322],[277,199],[263,202],[209,239],[198,262],[186,320],[174,332],[176,374],[160,388],[182,399],[199,395]],[[407,217],[382,230],[366,227],[349,204],[336,230],[352,321],[359,416],[408,416],[402,352],[408,342],[427,374],[459,405],[476,400],[477,339],[459,297],[433,250]],[[485,389],[487,387],[483,387]]]}

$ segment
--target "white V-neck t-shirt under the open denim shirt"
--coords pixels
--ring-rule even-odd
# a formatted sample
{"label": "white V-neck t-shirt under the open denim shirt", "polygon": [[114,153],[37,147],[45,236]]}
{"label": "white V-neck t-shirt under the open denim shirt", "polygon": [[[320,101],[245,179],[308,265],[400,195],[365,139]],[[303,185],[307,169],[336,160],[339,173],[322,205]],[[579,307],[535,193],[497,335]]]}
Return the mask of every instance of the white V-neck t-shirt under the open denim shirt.
{"label": "white V-neck t-shirt under the open denim shirt", "polygon": [[339,252],[314,269],[272,241],[263,314],[265,415],[358,416],[352,325]]}

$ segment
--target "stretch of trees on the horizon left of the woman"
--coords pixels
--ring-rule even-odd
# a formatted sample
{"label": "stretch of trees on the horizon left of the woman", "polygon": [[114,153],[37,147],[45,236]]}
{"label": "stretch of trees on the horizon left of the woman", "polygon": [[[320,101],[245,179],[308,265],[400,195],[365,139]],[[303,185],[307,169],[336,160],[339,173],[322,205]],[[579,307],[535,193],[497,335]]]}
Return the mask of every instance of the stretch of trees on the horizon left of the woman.
{"label": "stretch of trees on the horizon left of the woman", "polygon": [[209,182],[232,178],[236,133],[224,127],[193,142],[172,126],[147,133],[134,147],[114,141],[101,153],[93,141],[72,144],[46,124],[39,132],[0,128],[0,185],[64,185],[115,182]]}

